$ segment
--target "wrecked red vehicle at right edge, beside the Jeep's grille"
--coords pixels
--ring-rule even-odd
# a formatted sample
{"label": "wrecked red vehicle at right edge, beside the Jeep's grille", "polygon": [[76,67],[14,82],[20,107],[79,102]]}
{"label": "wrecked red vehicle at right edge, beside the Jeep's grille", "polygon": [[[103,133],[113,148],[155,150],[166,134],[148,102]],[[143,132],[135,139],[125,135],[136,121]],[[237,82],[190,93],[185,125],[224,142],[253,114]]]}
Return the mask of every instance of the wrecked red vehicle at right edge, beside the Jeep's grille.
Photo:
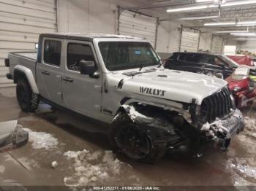
{"label": "wrecked red vehicle at right edge, beside the Jeep's grille", "polygon": [[230,91],[233,92],[238,109],[252,103],[256,96],[256,88],[255,82],[249,77],[249,69],[247,67],[237,68],[225,80],[228,82]]}

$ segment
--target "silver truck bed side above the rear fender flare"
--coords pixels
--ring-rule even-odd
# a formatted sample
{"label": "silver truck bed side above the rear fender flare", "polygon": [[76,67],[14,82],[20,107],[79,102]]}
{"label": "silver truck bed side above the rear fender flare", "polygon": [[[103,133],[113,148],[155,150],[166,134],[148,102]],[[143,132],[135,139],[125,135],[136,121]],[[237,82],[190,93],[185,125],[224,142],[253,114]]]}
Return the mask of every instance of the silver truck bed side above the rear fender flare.
{"label": "silver truck bed side above the rear fender flare", "polygon": [[37,52],[10,52],[8,55],[10,59],[10,74],[13,76],[13,71],[15,66],[25,66],[26,68],[31,69],[35,77],[35,69],[37,62]]}

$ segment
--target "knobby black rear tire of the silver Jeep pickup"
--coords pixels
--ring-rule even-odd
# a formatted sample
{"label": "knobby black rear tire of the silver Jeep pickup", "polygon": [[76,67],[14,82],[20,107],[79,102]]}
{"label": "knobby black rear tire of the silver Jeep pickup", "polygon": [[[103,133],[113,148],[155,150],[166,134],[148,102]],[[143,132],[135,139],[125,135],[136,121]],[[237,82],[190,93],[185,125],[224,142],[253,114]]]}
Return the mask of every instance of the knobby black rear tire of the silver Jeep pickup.
{"label": "knobby black rear tire of the silver Jeep pickup", "polygon": [[39,96],[32,92],[29,83],[23,79],[18,79],[16,96],[23,112],[34,112],[39,106]]}

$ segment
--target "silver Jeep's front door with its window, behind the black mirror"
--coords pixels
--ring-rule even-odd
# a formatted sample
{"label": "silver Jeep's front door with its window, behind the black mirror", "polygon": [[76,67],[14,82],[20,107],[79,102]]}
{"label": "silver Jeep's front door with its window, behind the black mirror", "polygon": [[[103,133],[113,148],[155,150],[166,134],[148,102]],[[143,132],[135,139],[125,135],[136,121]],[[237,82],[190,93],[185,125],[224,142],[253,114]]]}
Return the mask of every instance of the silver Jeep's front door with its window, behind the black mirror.
{"label": "silver Jeep's front door with its window, behind the black mirror", "polygon": [[91,42],[67,40],[67,55],[63,77],[64,102],[69,109],[89,117],[96,117],[101,112],[102,74],[89,77],[80,74],[80,61],[94,61],[99,69]]}

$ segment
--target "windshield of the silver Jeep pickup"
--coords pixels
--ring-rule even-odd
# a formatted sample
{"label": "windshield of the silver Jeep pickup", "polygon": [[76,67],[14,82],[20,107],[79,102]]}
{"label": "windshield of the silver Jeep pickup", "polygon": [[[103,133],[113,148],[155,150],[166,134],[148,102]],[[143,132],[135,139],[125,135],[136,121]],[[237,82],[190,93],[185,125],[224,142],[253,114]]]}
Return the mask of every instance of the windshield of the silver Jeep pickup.
{"label": "windshield of the silver Jeep pickup", "polygon": [[99,42],[99,50],[109,71],[140,69],[160,63],[148,42]]}

